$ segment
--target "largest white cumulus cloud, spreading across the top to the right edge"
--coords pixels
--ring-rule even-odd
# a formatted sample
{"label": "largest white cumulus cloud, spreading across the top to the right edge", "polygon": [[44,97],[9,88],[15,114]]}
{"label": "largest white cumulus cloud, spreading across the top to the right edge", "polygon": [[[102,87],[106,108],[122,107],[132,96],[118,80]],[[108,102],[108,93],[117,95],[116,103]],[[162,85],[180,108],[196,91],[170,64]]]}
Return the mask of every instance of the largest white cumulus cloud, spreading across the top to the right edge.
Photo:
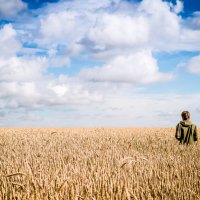
{"label": "largest white cumulus cloud, spreading across the top to the right edge", "polygon": [[89,51],[91,56],[101,54],[101,58],[111,51],[120,53],[120,49],[199,50],[200,45],[196,44],[200,43],[200,32],[185,25],[178,15],[182,10],[179,0],[175,5],[161,0],[137,4],[120,0],[87,0],[84,4],[79,0],[61,1],[49,5],[39,18],[35,41],[51,48],[65,45],[67,52],[75,51],[76,56]]}

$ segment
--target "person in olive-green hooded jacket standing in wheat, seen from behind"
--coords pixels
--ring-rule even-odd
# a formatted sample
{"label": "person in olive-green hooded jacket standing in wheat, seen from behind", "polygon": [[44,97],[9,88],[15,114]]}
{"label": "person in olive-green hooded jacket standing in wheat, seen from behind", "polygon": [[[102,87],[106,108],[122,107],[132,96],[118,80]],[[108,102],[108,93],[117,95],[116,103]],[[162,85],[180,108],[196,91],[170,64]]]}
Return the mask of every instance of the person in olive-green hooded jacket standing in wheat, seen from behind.
{"label": "person in olive-green hooded jacket standing in wheat, seen from behind", "polygon": [[198,141],[197,126],[190,121],[190,113],[183,111],[181,113],[182,121],[176,126],[175,138],[180,144],[193,144]]}

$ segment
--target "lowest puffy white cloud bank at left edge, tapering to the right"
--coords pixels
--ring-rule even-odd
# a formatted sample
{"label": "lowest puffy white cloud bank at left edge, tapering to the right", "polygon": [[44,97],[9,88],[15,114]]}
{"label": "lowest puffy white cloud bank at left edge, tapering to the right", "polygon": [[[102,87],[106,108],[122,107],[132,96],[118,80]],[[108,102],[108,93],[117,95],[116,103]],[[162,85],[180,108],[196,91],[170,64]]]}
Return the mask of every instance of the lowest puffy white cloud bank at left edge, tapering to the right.
{"label": "lowest puffy white cloud bank at left edge, tapering to the right", "polygon": [[47,78],[37,81],[4,81],[0,83],[0,108],[46,108],[48,106],[88,104],[100,96],[88,91],[78,81]]}

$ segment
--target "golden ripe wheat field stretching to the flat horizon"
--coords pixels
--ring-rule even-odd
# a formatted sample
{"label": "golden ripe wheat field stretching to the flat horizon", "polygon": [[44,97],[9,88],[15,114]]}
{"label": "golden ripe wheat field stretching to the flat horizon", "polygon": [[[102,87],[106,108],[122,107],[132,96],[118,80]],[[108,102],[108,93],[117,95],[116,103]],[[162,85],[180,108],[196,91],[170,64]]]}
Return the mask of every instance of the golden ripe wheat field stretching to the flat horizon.
{"label": "golden ripe wheat field stretching to the flat horizon", "polygon": [[0,199],[200,199],[200,144],[174,131],[0,129]]}

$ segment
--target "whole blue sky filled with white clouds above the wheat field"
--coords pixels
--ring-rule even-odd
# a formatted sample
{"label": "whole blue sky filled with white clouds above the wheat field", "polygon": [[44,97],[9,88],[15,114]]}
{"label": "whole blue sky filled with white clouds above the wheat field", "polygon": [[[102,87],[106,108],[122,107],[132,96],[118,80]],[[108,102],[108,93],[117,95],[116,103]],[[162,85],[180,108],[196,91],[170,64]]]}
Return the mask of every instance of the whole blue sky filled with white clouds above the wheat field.
{"label": "whole blue sky filled with white clouds above the wheat field", "polygon": [[0,127],[200,126],[199,0],[0,0]]}

